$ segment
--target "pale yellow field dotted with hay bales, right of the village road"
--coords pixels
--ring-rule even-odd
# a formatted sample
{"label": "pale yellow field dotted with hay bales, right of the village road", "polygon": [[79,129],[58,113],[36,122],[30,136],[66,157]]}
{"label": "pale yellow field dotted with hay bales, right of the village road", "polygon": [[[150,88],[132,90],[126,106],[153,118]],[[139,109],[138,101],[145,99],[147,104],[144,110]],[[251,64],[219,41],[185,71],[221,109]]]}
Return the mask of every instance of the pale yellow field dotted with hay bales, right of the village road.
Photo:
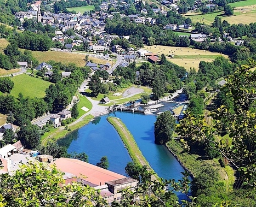
{"label": "pale yellow field dotted with hay bales, right of the village road", "polygon": [[[153,53],[166,55],[167,60],[177,64],[178,66],[183,66],[186,70],[189,70],[190,67],[194,67],[198,70],[198,66],[200,61],[212,62],[218,56],[224,56],[228,58],[227,55],[221,55],[218,52],[209,52],[207,50],[197,50],[192,48],[181,48],[181,47],[173,47],[173,46],[146,46],[144,45],[146,50],[149,50]],[[169,55],[174,55],[173,57],[169,57]]]}

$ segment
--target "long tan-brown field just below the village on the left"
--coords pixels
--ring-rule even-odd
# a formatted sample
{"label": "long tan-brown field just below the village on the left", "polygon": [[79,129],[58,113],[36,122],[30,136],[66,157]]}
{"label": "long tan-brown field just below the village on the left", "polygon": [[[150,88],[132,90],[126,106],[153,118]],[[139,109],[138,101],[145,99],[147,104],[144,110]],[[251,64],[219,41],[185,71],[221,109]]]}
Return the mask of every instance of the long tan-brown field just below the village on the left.
{"label": "long tan-brown field just below the village on the left", "polygon": [[[21,49],[21,51],[24,51],[24,49]],[[40,52],[40,51],[31,51],[33,57],[35,57],[40,63],[41,62],[47,62],[49,60],[53,60],[56,62],[62,62],[62,63],[76,63],[77,66],[83,67],[86,64],[86,61],[84,58],[86,57],[86,54],[77,54],[75,52],[58,52],[58,51],[46,51],[46,52]],[[89,56],[89,60],[92,60],[94,63],[97,64],[105,64],[107,61],[101,60],[96,57]]]}

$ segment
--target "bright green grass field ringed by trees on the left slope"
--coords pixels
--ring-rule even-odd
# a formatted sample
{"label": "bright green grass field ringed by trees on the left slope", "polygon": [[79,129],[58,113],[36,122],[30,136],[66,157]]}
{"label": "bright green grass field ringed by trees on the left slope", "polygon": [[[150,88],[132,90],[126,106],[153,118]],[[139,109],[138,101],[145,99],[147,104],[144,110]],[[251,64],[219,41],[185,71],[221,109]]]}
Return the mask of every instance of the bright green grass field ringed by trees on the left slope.
{"label": "bright green grass field ringed by trees on the left slope", "polygon": [[10,94],[14,97],[18,97],[18,94],[21,92],[25,97],[43,98],[45,96],[45,89],[51,84],[26,74],[14,76],[12,80],[14,81],[14,88]]}

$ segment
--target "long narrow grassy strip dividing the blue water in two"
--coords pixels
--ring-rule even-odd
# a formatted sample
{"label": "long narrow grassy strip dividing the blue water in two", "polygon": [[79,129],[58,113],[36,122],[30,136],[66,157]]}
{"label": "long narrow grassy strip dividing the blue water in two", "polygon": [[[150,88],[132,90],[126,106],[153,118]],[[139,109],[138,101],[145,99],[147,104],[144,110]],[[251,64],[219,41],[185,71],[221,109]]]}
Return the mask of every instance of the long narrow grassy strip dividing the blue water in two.
{"label": "long narrow grassy strip dividing the blue water in two", "polygon": [[111,125],[115,127],[116,131],[123,140],[123,144],[126,146],[130,158],[132,158],[134,164],[138,164],[141,167],[147,165],[148,168],[152,169],[146,158],[141,153],[133,135],[129,132],[126,125],[124,125],[124,123],[116,117],[107,117],[107,121],[109,121]]}

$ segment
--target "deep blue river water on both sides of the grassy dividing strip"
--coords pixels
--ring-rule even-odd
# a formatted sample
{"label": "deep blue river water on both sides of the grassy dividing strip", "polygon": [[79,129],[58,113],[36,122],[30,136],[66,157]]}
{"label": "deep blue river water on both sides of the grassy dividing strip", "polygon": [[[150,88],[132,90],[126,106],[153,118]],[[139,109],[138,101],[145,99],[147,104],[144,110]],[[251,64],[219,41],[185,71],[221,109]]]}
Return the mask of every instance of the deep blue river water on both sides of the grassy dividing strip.
{"label": "deep blue river water on both sides of the grassy dividing strip", "polygon": [[[180,97],[181,98],[181,97]],[[173,107],[174,103],[165,103],[162,110]],[[116,112],[110,116],[119,117],[133,134],[144,157],[150,163],[158,176],[164,179],[181,179],[183,167],[165,146],[154,143],[154,123],[156,115],[143,115],[125,112]],[[106,120],[107,115],[97,117],[58,143],[67,147],[67,152],[86,152],[89,163],[96,164],[100,158],[107,156],[109,170],[126,175],[124,168],[131,161],[127,149],[115,128]],[[183,197],[178,195],[179,198]],[[184,197],[183,197],[184,199]]]}

